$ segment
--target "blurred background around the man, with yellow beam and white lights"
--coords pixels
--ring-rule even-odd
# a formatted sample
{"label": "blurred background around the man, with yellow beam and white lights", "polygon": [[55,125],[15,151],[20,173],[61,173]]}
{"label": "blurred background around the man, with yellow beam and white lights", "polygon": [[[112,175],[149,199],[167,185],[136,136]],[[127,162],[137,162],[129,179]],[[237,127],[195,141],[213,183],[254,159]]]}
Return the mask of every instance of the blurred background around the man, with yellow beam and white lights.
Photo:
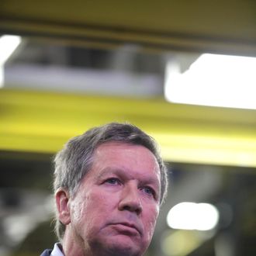
{"label": "blurred background around the man, with yellow beam and white lights", "polygon": [[169,192],[147,256],[256,253],[256,2],[0,2],[0,254],[53,247],[52,159],[130,122]]}

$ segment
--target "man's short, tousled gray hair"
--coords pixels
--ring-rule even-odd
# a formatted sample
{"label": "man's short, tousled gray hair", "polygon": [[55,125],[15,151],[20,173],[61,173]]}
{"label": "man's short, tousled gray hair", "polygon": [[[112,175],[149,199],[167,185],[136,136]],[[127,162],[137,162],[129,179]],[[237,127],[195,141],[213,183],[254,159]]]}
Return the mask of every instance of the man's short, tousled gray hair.
{"label": "man's short, tousled gray hair", "polygon": [[[71,196],[77,192],[81,179],[92,168],[95,149],[110,141],[141,145],[150,150],[157,159],[161,171],[161,197],[164,202],[168,189],[167,168],[159,154],[155,140],[137,126],[129,123],[108,123],[88,130],[67,141],[54,159],[54,192],[66,189]],[[56,217],[55,231],[59,240],[64,237],[65,226]]]}

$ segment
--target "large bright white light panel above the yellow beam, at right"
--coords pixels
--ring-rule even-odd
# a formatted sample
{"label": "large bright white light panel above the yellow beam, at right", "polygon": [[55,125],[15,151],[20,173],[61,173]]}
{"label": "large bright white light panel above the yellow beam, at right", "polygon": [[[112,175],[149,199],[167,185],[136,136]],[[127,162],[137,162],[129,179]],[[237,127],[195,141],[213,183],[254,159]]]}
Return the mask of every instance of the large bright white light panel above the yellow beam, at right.
{"label": "large bright white light panel above the yellow beam, at right", "polygon": [[166,67],[164,95],[170,102],[256,109],[256,58],[202,54],[181,72],[177,61]]}

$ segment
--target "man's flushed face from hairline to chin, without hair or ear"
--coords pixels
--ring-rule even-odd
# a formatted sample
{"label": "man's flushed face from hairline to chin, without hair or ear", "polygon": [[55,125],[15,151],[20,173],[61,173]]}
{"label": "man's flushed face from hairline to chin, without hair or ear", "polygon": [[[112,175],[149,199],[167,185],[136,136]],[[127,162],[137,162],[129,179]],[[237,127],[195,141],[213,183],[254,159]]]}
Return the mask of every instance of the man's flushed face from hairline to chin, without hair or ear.
{"label": "man's flushed face from hairline to chin, without hair or ear", "polygon": [[159,197],[160,169],[150,150],[102,144],[69,200],[71,233],[85,252],[141,255],[154,233]]}

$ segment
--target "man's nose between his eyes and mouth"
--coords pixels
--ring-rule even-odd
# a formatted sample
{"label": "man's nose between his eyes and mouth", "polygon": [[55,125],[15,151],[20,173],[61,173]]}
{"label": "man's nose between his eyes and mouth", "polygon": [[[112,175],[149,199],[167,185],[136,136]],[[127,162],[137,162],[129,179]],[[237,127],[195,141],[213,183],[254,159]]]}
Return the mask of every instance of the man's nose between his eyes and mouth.
{"label": "man's nose between his eyes and mouth", "polygon": [[119,201],[119,210],[126,210],[140,215],[142,212],[142,205],[137,185],[126,185],[123,188]]}

